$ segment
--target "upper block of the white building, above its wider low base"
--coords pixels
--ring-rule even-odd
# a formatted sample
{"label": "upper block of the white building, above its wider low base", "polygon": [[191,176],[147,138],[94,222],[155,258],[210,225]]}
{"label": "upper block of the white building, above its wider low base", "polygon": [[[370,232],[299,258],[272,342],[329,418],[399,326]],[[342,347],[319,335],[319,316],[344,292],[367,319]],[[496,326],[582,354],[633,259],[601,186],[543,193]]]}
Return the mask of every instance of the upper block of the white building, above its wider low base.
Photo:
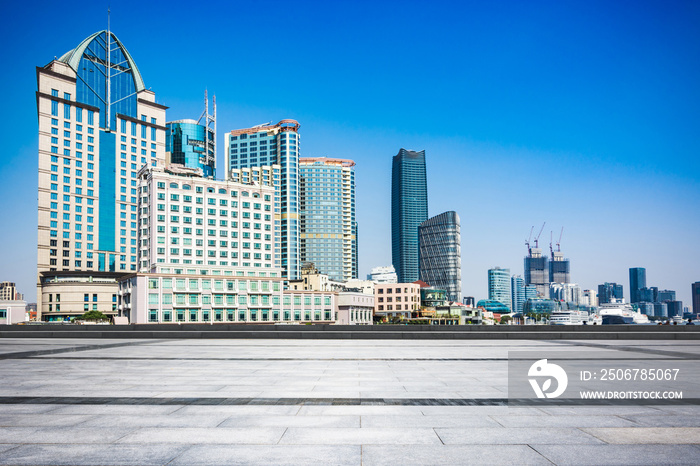
{"label": "upper block of the white building, above its wider low base", "polygon": [[201,170],[171,165],[139,172],[139,272],[194,269],[277,272],[274,186],[214,181]]}

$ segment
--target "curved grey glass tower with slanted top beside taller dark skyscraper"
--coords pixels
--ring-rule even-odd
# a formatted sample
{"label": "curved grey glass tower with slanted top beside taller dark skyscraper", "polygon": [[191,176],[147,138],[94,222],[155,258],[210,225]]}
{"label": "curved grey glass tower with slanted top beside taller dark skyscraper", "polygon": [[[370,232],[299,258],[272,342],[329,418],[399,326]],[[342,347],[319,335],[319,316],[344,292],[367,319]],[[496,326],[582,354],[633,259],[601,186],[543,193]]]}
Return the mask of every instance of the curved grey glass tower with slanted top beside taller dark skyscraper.
{"label": "curved grey glass tower with slanted top beside taller dark skyscraper", "polygon": [[418,227],[419,275],[430,286],[447,291],[450,301],[462,296],[462,242],[459,215],[443,212]]}

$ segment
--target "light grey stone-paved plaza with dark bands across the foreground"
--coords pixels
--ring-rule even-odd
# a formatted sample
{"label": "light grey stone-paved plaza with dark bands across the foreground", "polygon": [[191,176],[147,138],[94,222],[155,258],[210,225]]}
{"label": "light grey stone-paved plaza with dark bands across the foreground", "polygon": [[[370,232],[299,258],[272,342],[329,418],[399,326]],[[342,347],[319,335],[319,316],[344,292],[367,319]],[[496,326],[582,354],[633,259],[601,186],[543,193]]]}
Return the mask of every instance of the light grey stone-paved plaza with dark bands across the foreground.
{"label": "light grey stone-paved plaza with dark bands across the foreground", "polygon": [[508,351],[597,348],[700,358],[697,341],[0,339],[0,464],[700,464],[698,405],[505,403]]}

